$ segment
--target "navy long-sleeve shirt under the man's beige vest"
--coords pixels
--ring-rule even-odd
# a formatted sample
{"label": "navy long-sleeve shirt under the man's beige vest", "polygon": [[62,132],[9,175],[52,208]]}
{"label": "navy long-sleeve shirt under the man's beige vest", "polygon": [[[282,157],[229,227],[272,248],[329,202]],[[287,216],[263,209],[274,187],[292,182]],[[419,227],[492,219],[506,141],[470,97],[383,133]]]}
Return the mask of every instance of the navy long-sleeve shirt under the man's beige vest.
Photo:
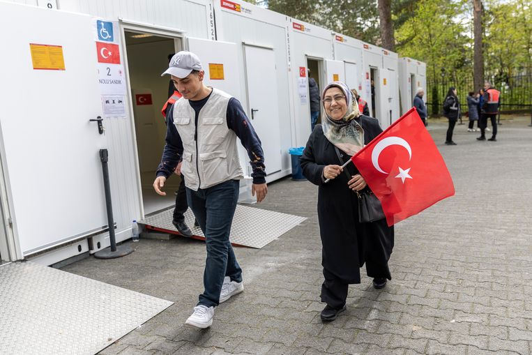
{"label": "navy long-sleeve shirt under the man's beige vest", "polygon": [[[212,92],[211,92],[212,93]],[[209,94],[202,100],[192,101],[189,100],[190,107],[195,111],[195,123],[199,117],[199,111],[206,104]],[[169,109],[167,114],[167,133],[166,133],[166,145],[162,152],[161,163],[157,168],[157,176],[165,176],[168,178],[174,173],[174,169],[181,161],[183,155],[183,141],[177,132],[174,125],[174,106]],[[257,133],[253,129],[248,116],[245,114],[241,103],[236,98],[230,98],[227,105],[227,128],[233,130],[236,136],[240,139],[245,150],[248,152],[250,158],[250,164],[253,169],[251,174],[253,183],[266,183],[266,167],[264,165],[264,153],[261,147],[261,141],[257,136]]]}

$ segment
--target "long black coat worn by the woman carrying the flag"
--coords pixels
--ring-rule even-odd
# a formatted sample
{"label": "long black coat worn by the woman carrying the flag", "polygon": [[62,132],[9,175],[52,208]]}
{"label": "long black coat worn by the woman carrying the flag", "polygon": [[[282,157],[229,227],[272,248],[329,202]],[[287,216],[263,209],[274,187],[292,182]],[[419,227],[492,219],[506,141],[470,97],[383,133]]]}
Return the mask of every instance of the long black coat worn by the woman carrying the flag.
{"label": "long black coat worn by the woman carrying the flag", "polygon": [[[358,123],[364,129],[365,144],[382,132],[377,119],[360,116]],[[349,156],[340,151],[342,159]],[[358,222],[358,197],[347,186],[348,178],[342,172],[336,179],[324,183],[326,165],[342,165],[335,146],[324,136],[321,125],[316,125],[301,156],[303,175],[319,186],[318,220],[324,269],[345,283],[360,283],[360,267],[366,263],[367,274],[373,278],[388,278],[388,259],[393,249],[393,227],[386,219],[377,222]],[[353,164],[347,165],[349,174],[358,174]]]}

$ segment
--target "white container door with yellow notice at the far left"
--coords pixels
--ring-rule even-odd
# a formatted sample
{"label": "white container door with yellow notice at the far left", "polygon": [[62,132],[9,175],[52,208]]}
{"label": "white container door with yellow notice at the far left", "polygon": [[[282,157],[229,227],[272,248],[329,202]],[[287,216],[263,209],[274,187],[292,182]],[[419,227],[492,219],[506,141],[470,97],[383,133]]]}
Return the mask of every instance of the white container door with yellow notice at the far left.
{"label": "white container door with yellow notice at the far left", "polygon": [[29,255],[107,225],[105,135],[89,122],[103,116],[96,43],[86,15],[10,3],[0,13],[9,19],[0,22],[9,49],[0,56],[0,144],[15,237]]}

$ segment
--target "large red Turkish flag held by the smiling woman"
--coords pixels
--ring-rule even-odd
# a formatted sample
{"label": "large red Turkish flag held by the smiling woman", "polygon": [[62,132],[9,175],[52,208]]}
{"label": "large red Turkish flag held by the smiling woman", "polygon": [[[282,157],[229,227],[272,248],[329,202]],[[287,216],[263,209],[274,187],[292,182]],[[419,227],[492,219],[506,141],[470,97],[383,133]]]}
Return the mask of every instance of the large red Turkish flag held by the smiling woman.
{"label": "large red Turkish flag held by the smiling woman", "polygon": [[455,195],[446,163],[413,107],[351,160],[389,226]]}

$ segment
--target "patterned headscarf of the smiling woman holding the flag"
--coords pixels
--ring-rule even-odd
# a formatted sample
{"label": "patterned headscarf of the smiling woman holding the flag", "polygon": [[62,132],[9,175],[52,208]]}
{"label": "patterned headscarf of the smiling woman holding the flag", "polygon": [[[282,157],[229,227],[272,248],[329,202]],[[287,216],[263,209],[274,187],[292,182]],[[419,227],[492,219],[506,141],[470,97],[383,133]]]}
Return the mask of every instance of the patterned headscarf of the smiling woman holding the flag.
{"label": "patterned headscarf of the smiling woman holding the flag", "polygon": [[349,156],[353,156],[364,146],[364,130],[355,120],[360,116],[358,103],[356,103],[356,99],[346,84],[343,82],[331,82],[325,86],[324,91],[321,93],[321,105],[324,105],[325,93],[331,87],[337,87],[344,93],[347,102],[347,112],[342,119],[335,120],[328,116],[324,108],[324,113],[321,115],[321,127],[329,142],[342,149]]}

